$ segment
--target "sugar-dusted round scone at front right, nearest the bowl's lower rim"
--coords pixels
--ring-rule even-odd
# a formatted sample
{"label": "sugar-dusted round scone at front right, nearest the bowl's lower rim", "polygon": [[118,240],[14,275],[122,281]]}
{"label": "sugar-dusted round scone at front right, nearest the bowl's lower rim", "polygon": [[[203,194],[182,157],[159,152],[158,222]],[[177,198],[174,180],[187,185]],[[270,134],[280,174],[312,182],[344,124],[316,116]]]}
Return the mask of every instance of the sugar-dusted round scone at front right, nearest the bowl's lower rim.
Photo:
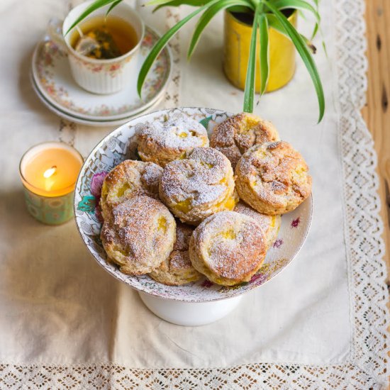
{"label": "sugar-dusted round scone at front right, nearest the bowl's lower rim", "polygon": [[249,282],[266,252],[265,235],[257,222],[235,211],[222,211],[206,218],[189,242],[194,268],[223,286]]}

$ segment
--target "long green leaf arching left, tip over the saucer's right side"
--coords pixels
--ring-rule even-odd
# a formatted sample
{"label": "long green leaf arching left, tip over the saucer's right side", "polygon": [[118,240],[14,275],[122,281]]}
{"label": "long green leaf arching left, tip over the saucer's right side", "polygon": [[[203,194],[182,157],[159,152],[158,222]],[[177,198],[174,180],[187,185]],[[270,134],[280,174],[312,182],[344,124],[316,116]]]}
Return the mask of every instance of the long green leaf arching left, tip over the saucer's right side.
{"label": "long green leaf arching left, tip over the saucer's right side", "polygon": [[217,1],[219,1],[219,0],[212,0],[206,6],[202,6],[199,9],[196,9],[196,11],[190,13],[185,18],[183,18],[181,21],[176,23],[172,28],[167,30],[167,32],[164,35],[162,35],[162,37],[159,40],[157,40],[157,42],[153,46],[152,50],[150,50],[149,54],[145,58],[145,61],[143,62],[143,65],[140,69],[140,73],[138,74],[137,91],[138,91],[139,96],[141,96],[143,83],[145,82],[145,79],[146,79],[147,73],[150,70],[150,67],[152,67],[153,62],[155,62],[155,59],[160,54],[161,50],[163,48],[165,48],[165,45],[167,45],[169,40],[174,36],[174,34],[177,33],[177,31],[180,30],[180,28],[182,28],[182,26],[184,26],[184,24],[186,24],[188,21],[190,21],[192,18],[194,18],[194,16],[196,16],[201,11],[204,11],[204,9],[206,9],[206,7],[210,6],[211,4],[215,4]]}

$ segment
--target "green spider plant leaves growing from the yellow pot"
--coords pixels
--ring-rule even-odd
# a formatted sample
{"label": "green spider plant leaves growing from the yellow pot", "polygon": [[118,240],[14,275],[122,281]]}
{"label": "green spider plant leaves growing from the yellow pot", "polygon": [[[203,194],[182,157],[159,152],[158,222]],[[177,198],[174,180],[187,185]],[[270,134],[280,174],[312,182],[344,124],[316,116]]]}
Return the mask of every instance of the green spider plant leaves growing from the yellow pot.
{"label": "green spider plant leaves growing from the yellow pot", "polygon": [[[69,28],[72,30],[79,22],[89,16],[89,14],[96,9],[103,6],[108,6],[109,13],[111,9],[121,3],[123,0],[95,0],[89,7],[82,13],[81,16],[74,22]],[[313,1],[313,3],[311,3]],[[301,56],[304,65],[310,75],[314,88],[316,89],[319,116],[318,122],[323,118],[325,111],[325,98],[323,94],[323,87],[321,84],[321,78],[318,74],[318,69],[311,55],[313,45],[311,45],[311,39],[318,30],[320,23],[320,16],[318,13],[318,0],[152,0],[148,4],[155,5],[155,11],[163,6],[180,6],[186,4],[196,7],[196,10],[189,13],[185,18],[179,21],[175,26],[170,28],[160,40],[155,43],[155,46],[150,51],[149,55],[145,59],[143,66],[140,69],[138,75],[137,89],[138,94],[141,96],[141,90],[147,73],[152,67],[153,62],[160,54],[161,50],[167,45],[169,40],[180,30],[188,21],[201,13],[201,16],[196,23],[194,33],[189,43],[189,49],[187,57],[190,58],[194,53],[201,33],[207,24],[211,21],[213,16],[219,11],[228,10],[235,13],[250,13],[253,16],[252,23],[252,36],[250,40],[250,53],[247,63],[247,74],[245,79],[245,92],[244,92],[244,106],[243,111],[252,112],[253,102],[255,100],[255,72],[256,72],[256,56],[260,56],[260,96],[264,94],[267,87],[267,81],[269,77],[269,41],[268,41],[268,29],[274,28],[286,35],[294,43],[297,52]],[[308,11],[312,13],[316,22],[313,29],[311,38],[306,38],[288,21],[284,15],[284,10],[294,11]],[[69,30],[67,33],[69,33]],[[256,43],[257,35],[260,37],[260,52],[257,53]],[[314,50],[315,51],[315,48]]]}

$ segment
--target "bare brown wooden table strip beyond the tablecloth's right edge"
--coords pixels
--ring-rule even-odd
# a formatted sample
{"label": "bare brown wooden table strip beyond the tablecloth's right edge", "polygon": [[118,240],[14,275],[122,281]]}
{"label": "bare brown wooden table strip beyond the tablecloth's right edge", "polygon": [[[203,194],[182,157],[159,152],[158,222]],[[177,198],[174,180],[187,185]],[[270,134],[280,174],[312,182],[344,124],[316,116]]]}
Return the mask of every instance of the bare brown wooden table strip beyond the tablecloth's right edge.
{"label": "bare brown wooden table strip beyond the tablecloth's right edge", "polygon": [[368,91],[362,115],[378,154],[379,195],[384,221],[387,286],[390,286],[390,0],[365,0]]}

